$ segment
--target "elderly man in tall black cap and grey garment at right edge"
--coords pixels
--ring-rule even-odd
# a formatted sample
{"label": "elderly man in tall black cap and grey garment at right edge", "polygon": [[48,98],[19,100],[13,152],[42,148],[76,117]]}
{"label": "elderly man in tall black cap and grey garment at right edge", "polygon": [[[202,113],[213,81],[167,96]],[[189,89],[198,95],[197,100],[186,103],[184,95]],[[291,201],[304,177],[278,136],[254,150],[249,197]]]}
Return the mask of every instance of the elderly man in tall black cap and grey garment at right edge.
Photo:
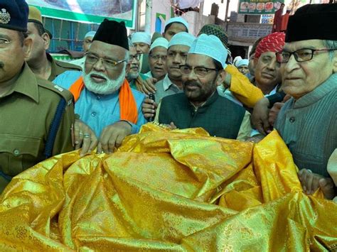
{"label": "elderly man in tall black cap and grey garment at right edge", "polygon": [[282,88],[292,98],[275,128],[299,168],[308,195],[318,188],[332,199],[336,187],[328,159],[337,147],[337,5],[308,4],[289,18],[281,63]]}

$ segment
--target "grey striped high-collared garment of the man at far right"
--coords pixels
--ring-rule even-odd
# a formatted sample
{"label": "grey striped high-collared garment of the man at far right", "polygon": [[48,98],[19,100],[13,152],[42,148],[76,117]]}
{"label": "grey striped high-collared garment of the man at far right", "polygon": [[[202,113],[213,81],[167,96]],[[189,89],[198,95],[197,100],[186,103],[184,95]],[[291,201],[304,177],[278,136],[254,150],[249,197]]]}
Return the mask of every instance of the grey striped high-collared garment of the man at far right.
{"label": "grey striped high-collared garment of the man at far right", "polygon": [[284,104],[275,128],[299,169],[329,177],[328,158],[337,147],[337,73],[305,94]]}

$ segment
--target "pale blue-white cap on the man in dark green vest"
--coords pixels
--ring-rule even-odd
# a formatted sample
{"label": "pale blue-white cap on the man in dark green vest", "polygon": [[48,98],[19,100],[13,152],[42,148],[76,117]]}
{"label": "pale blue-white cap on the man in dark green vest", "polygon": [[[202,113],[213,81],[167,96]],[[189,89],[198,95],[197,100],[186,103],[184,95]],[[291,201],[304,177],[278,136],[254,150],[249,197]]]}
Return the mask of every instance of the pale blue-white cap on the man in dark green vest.
{"label": "pale blue-white cap on the man in dark green vest", "polygon": [[190,53],[206,55],[220,62],[224,69],[227,67],[227,50],[223,43],[221,43],[221,40],[215,35],[201,34],[193,41],[188,51],[188,54]]}

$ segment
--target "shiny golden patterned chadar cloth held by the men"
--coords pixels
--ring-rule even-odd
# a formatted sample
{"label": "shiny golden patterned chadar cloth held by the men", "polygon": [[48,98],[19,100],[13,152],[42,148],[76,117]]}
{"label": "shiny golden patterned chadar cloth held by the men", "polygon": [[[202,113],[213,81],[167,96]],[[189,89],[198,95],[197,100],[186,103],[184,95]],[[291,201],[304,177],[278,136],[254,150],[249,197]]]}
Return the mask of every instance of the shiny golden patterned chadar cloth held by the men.
{"label": "shiny golden patterned chadar cloth held by the men", "polygon": [[147,124],[112,155],[57,155],[1,195],[0,251],[334,251],[277,131],[254,146]]}

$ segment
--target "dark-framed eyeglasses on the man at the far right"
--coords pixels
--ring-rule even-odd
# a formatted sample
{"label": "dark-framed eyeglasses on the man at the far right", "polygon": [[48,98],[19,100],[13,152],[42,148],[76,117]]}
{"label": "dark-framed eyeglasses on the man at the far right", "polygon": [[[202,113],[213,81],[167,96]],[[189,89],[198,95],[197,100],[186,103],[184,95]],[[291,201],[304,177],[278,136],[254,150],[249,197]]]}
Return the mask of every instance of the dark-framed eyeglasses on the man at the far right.
{"label": "dark-framed eyeglasses on the man at the far right", "polygon": [[291,55],[294,55],[297,62],[309,61],[314,57],[315,52],[331,52],[337,49],[299,49],[294,52],[287,52],[283,50],[276,53],[277,62],[287,63],[290,60]]}

